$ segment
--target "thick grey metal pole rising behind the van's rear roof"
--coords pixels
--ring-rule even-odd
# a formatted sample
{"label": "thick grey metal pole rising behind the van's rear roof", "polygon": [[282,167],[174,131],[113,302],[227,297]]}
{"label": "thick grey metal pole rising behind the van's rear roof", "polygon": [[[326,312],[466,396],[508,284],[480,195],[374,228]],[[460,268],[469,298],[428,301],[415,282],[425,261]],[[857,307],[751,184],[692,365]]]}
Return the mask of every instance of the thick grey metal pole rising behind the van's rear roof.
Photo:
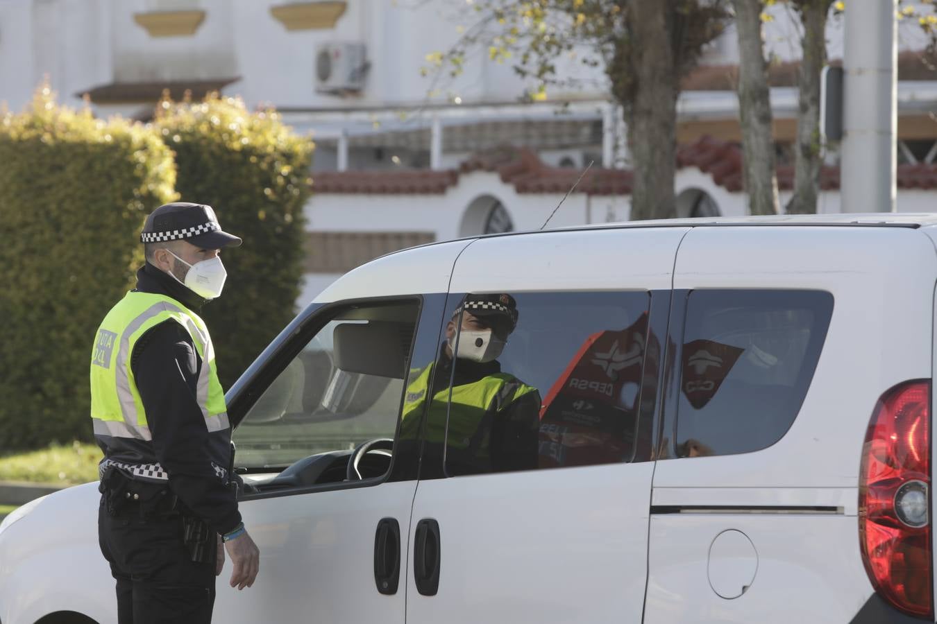
{"label": "thick grey metal pole rising behind the van's rear roof", "polygon": [[897,0],[852,0],[843,54],[842,212],[895,211]]}

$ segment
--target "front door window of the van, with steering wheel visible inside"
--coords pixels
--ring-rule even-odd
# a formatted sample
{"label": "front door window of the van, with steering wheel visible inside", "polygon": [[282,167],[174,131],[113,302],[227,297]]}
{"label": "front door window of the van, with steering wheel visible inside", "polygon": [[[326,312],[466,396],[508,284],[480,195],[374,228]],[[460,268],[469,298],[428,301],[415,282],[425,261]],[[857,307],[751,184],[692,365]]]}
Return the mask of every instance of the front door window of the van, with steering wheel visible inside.
{"label": "front door window of the van, with steering wheel visible inside", "polygon": [[261,491],[343,482],[350,450],[378,439],[358,473],[389,470],[419,314],[417,300],[375,302],[322,321],[234,432],[239,467],[279,473]]}

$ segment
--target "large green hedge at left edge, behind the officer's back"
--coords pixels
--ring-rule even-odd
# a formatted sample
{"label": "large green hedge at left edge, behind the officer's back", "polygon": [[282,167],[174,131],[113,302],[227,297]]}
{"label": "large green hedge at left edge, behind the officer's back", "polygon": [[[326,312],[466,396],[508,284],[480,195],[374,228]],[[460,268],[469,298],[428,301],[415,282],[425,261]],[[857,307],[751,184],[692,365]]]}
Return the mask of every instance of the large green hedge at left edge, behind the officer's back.
{"label": "large green hedge at left edge, behind the officer's back", "polygon": [[174,180],[152,129],[59,107],[48,87],[0,116],[0,450],[91,438],[95,330]]}

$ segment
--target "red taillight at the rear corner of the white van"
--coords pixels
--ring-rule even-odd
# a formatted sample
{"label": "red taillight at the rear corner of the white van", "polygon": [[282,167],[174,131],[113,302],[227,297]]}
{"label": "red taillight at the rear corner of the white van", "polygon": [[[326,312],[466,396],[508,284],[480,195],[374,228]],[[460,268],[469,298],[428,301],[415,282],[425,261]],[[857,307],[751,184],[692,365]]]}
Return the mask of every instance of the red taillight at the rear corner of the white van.
{"label": "red taillight at the rear corner of the white van", "polygon": [[875,590],[932,620],[930,381],[896,385],[875,407],[859,472],[859,542]]}

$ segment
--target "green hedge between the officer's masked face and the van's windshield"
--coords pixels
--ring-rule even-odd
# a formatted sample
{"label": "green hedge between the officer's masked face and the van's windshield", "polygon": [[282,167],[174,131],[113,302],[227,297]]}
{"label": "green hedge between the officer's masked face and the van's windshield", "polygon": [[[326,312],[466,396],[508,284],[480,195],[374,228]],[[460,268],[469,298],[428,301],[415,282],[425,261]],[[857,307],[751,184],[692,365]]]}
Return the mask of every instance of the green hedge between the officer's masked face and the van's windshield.
{"label": "green hedge between the officer's masked face and the van's windshield", "polygon": [[234,98],[164,100],[155,123],[176,153],[181,201],[211,205],[244,239],[222,253],[224,293],[202,310],[227,389],[295,314],[313,144],[274,111],[250,112]]}

